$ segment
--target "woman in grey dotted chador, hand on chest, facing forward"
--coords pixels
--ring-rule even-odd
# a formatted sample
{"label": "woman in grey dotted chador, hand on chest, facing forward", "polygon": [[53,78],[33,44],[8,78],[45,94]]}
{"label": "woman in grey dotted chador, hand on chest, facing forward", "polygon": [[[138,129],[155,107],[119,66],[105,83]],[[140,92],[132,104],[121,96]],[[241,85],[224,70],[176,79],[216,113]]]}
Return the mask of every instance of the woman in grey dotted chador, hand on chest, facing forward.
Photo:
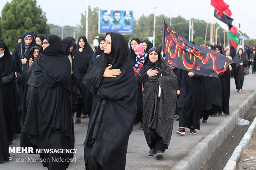
{"label": "woman in grey dotted chador, hand on chest, facing forward", "polygon": [[171,141],[177,77],[162,58],[160,50],[152,47],[136,78],[144,88],[142,120],[150,148],[148,155],[161,159]]}

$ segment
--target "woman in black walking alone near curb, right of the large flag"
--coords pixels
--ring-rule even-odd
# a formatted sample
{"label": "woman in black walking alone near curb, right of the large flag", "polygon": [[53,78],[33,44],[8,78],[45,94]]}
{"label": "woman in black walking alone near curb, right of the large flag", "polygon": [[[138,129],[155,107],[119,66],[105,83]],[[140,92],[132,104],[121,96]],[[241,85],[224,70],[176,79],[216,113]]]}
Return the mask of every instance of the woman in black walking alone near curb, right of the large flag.
{"label": "woman in black walking alone near curb, right of the large flag", "polygon": [[243,49],[239,49],[233,61],[236,63],[234,68],[235,86],[238,93],[242,93],[244,84],[244,66],[246,66],[246,56]]}

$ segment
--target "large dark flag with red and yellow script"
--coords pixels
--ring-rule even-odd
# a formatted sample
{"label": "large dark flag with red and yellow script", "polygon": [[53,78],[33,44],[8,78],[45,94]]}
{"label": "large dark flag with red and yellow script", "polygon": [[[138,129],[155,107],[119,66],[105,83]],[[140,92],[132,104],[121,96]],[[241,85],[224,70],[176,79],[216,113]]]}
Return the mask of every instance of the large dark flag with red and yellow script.
{"label": "large dark flag with red and yellow script", "polygon": [[162,41],[166,61],[175,68],[218,77],[218,74],[226,71],[229,64],[234,63],[217,51],[190,43],[164,22],[164,19]]}

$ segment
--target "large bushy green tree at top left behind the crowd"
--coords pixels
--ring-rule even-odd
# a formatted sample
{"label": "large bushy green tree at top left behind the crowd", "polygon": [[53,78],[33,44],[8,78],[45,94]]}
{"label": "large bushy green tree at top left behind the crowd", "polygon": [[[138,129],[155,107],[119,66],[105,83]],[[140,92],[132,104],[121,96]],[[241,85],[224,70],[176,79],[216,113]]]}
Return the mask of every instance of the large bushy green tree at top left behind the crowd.
{"label": "large bushy green tree at top left behind the crowd", "polygon": [[16,46],[17,37],[26,31],[34,35],[49,34],[45,13],[40,6],[37,7],[36,0],[12,0],[6,2],[2,9],[2,26],[5,35],[5,43],[12,51]]}

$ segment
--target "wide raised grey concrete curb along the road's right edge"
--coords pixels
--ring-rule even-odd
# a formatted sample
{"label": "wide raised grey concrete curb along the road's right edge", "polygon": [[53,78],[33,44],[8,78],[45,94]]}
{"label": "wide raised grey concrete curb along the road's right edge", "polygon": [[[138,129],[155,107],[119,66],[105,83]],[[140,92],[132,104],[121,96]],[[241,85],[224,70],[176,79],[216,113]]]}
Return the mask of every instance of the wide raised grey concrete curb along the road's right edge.
{"label": "wide raised grey concrete curb along the road's right edge", "polygon": [[[238,105],[237,109],[235,109],[230,114],[230,116],[223,119],[223,121],[221,121],[220,124],[209,133],[209,135],[207,135],[201,142],[199,142],[197,146],[192,151],[190,151],[190,153],[187,154],[187,156],[183,160],[179,161],[179,163],[176,164],[175,167],[172,168],[172,170],[200,170],[201,167],[211,158],[211,155],[216,151],[216,149],[220,147],[220,145],[228,137],[228,134],[232,132],[232,130],[234,130],[234,128],[237,126],[238,118],[244,117],[244,115],[247,113],[247,111],[250,109],[251,105],[253,105],[255,101],[256,101],[256,92],[254,91],[253,93],[251,93],[251,95],[247,97],[246,100],[244,100],[240,105]],[[254,128],[255,128],[256,119],[254,119],[254,121],[255,121],[254,123]],[[251,133],[253,133],[253,131]],[[244,135],[244,137],[245,136],[246,135]],[[240,144],[241,143],[245,144],[242,141],[244,141],[244,138],[241,140]],[[242,147],[242,146],[238,146],[238,147]],[[235,151],[236,150],[238,149],[236,148]],[[242,149],[240,150],[242,152]],[[231,169],[225,169],[225,170],[231,170]]]}

